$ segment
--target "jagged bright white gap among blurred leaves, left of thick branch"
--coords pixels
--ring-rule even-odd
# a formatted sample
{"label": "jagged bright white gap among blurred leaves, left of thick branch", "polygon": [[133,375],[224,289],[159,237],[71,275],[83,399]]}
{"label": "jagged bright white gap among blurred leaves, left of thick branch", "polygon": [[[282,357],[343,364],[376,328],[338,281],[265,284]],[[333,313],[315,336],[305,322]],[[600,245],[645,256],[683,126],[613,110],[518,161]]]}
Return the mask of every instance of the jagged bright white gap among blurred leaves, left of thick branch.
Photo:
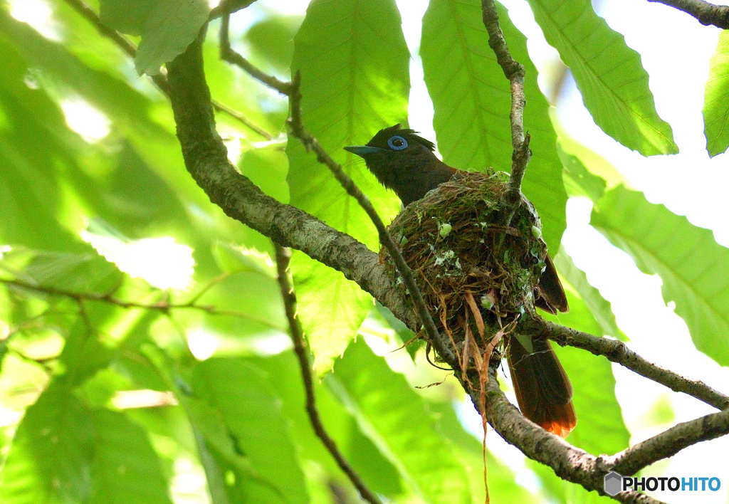
{"label": "jagged bright white gap among blurred leaves, left of thick branch", "polygon": [[192,249],[176,243],[171,236],[127,240],[82,231],[81,237],[121,271],[153,287],[187,290],[192,283]]}

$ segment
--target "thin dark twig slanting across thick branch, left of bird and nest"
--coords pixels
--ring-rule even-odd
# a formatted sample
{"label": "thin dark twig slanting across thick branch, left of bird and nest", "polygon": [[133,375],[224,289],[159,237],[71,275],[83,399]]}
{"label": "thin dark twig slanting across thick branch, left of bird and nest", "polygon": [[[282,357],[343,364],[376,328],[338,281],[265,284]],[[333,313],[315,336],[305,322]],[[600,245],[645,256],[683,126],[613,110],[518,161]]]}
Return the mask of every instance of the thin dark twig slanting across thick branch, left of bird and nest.
{"label": "thin dark twig slanting across thick branch, left of bird and nest", "polygon": [[356,199],[357,203],[359,203],[359,206],[362,206],[362,209],[364,209],[364,212],[367,212],[370,220],[372,220],[375,228],[377,228],[380,236],[380,241],[387,249],[387,252],[390,253],[390,256],[393,258],[395,262],[395,267],[397,268],[397,272],[400,274],[400,276],[402,276],[402,280],[403,282],[405,282],[405,287],[408,288],[410,296],[412,296],[416,313],[421,319],[430,343],[434,346],[436,351],[441,356],[450,354],[451,349],[449,349],[447,345],[442,344],[441,338],[438,336],[438,330],[435,327],[435,323],[430,316],[430,311],[425,304],[425,300],[423,299],[423,293],[420,291],[420,288],[415,281],[413,271],[410,270],[408,263],[405,263],[405,259],[402,257],[402,254],[397,248],[397,245],[395,245],[392,236],[390,236],[390,233],[388,233],[387,228],[385,227],[380,216],[375,210],[375,207],[370,202],[370,198],[367,198],[367,196],[362,193],[362,190],[360,190],[359,187],[356,186],[354,180],[352,180],[351,177],[344,173],[344,171],[342,170],[342,166],[331,158],[327,151],[325,151],[324,148],[321,147],[319,141],[305,130],[301,119],[300,85],[301,74],[297,72],[292,82],[292,93],[290,96],[291,119],[289,120],[289,124],[291,125],[291,134],[297,139],[300,139],[301,143],[304,144],[307,152],[313,150],[313,152],[316,153],[316,160],[318,160],[319,163],[327,166],[327,168],[332,171],[335,179],[337,179],[342,187],[344,187],[344,190],[346,190],[349,195]]}

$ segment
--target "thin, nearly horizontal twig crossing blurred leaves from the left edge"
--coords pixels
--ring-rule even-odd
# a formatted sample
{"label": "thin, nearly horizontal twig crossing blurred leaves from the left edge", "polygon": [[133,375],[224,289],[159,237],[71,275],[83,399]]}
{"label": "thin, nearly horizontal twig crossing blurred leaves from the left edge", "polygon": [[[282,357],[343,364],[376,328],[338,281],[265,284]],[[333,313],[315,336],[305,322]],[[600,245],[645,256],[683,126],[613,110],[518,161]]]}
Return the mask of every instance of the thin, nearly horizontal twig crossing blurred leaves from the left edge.
{"label": "thin, nearly horizontal twig crossing blurred leaves from the left edge", "polygon": [[124,309],[144,309],[144,310],[157,310],[165,313],[171,310],[199,310],[204,311],[211,315],[220,315],[223,317],[238,317],[241,319],[247,319],[252,322],[257,322],[261,325],[265,325],[272,329],[281,330],[282,327],[278,327],[275,324],[271,324],[267,319],[255,317],[254,315],[244,314],[240,311],[233,310],[220,310],[213,305],[201,305],[195,303],[195,301],[188,301],[187,303],[168,303],[167,301],[158,301],[157,303],[138,303],[136,301],[124,301],[119,298],[114,298],[111,294],[101,294],[99,292],[74,292],[72,290],[58,289],[57,287],[50,287],[48,285],[35,285],[21,280],[12,279],[0,279],[0,284],[9,285],[10,287],[17,287],[19,289],[32,290],[46,295],[59,296],[63,298],[71,298],[79,306],[83,308],[82,301],[95,301],[98,303],[107,303],[114,306],[119,306]]}

